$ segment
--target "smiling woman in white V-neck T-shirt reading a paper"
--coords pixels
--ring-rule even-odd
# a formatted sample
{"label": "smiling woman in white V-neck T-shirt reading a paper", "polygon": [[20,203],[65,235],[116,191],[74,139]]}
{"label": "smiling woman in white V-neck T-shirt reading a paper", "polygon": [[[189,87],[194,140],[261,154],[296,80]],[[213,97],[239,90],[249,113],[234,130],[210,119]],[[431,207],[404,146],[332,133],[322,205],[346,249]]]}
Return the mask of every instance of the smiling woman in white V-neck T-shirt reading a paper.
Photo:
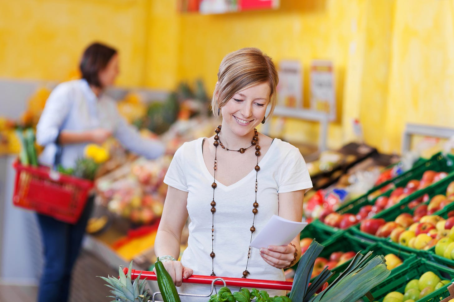
{"label": "smiling woman in white V-neck T-shirt reading a paper", "polygon": [[[210,138],[184,143],[173,157],[164,178],[168,193],[155,254],[181,292],[209,292],[209,287],[182,286],[193,273],[283,281],[283,268],[301,256],[299,236],[288,245],[250,246],[273,215],[301,222],[304,192],[312,187],[300,151],[256,130],[272,115],[277,82],[274,63],[259,49],[227,54],[212,98],[221,125]],[[176,259],[188,216],[188,248],[180,262]],[[285,294],[268,292],[271,297]]]}

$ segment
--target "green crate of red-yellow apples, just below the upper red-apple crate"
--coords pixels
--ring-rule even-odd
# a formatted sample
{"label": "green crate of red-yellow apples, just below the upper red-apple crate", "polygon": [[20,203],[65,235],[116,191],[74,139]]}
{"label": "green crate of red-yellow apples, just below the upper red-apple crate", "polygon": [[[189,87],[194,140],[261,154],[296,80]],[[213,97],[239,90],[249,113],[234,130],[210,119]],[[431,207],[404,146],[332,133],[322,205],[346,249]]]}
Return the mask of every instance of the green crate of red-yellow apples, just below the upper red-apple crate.
{"label": "green crate of red-yellow apples, just below the upper red-apple crate", "polygon": [[[416,198],[419,198],[421,196],[424,196],[424,194],[428,194],[430,198],[432,198],[438,194],[445,194],[446,188],[448,187],[449,183],[452,181],[454,181],[454,172],[450,173],[447,177],[440,180],[436,184],[429,186],[429,187],[425,187],[424,189],[416,191],[415,193],[409,195],[408,197],[405,197],[402,201],[400,201],[400,203],[390,207],[389,209],[381,211],[380,213],[375,215],[374,218],[383,218],[383,219],[385,219],[385,221],[394,221],[397,216],[399,216],[400,214],[402,214],[404,212],[410,213],[413,215],[414,209],[410,209],[408,207],[408,204],[410,203],[410,201],[412,201]],[[429,201],[427,201],[426,204],[428,202]],[[448,205],[447,208],[451,208],[452,206],[454,206],[453,203]],[[439,213],[442,213],[443,211],[444,211],[444,209],[440,210],[434,214],[438,215]],[[349,229],[349,232],[351,232],[351,234],[353,234],[359,238],[363,238],[363,239],[367,239],[367,240],[371,240],[371,241],[382,241],[382,242],[388,242],[389,244],[395,244],[395,246],[399,247],[399,249],[403,249],[410,253],[419,254],[419,256],[421,256],[421,257],[427,257],[427,254],[429,253],[426,250],[411,249],[411,248],[402,246],[400,244],[396,244],[396,243],[392,242],[389,238],[377,237],[375,235],[370,235],[370,234],[361,232],[360,225],[354,225],[352,228]]]}

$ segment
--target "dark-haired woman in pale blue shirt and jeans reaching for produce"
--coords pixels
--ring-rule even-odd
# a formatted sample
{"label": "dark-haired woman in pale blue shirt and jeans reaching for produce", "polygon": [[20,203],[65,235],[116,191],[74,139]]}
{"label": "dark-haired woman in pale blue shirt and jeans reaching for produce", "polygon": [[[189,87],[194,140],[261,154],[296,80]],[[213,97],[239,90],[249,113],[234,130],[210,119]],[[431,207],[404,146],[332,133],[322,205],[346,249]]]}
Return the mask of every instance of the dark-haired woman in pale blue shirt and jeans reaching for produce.
{"label": "dark-haired woman in pale blue shirt and jeans reaching for produce", "polygon": [[[86,144],[102,144],[111,136],[127,149],[147,158],[157,158],[164,146],[144,139],[118,114],[114,100],[103,92],[118,75],[118,53],[109,46],[93,43],[80,61],[82,79],[59,84],[46,101],[36,127],[36,140],[45,146],[44,164],[75,166]],[[38,302],[65,302],[74,262],[79,254],[93,196],[89,197],[79,221],[67,224],[38,215],[44,246],[44,270],[39,282]]]}

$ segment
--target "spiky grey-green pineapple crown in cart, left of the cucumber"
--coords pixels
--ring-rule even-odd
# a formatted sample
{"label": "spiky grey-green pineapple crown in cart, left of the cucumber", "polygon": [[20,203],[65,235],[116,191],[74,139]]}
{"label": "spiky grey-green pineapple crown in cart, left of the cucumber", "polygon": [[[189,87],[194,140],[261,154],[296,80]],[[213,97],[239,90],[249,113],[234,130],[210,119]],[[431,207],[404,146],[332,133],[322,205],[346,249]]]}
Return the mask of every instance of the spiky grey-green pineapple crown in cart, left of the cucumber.
{"label": "spiky grey-green pineapple crown in cart, left of the cucumber", "polygon": [[106,284],[107,287],[112,288],[110,291],[113,296],[108,296],[114,298],[112,302],[147,302],[151,297],[149,294],[149,289],[145,289],[145,281],[144,279],[142,283],[140,282],[140,274],[138,277],[134,280],[131,279],[131,269],[133,266],[133,262],[129,264],[129,269],[128,269],[128,274],[125,275],[123,270],[120,268],[118,269],[118,274],[120,278],[115,278],[115,277],[100,277],[104,281],[106,281],[109,284]]}

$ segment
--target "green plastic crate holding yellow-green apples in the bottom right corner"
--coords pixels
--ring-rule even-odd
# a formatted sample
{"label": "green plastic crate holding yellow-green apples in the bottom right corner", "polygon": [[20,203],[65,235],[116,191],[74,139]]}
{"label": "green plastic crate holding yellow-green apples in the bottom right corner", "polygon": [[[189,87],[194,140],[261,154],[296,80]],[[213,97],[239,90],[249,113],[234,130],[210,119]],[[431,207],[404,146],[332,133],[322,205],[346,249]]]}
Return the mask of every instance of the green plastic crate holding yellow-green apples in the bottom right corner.
{"label": "green plastic crate holding yellow-green apples in the bottom right corner", "polygon": [[[439,264],[430,262],[426,259],[417,258],[408,261],[405,264],[393,269],[391,274],[385,281],[370,290],[370,293],[375,298],[374,301],[382,301],[389,292],[404,292],[405,285],[411,279],[419,279],[419,277],[427,272],[432,271],[442,279],[454,281],[454,270],[441,266]],[[416,300],[415,302],[439,302],[445,297],[449,297],[448,285],[431,292],[429,295]],[[369,301],[363,298],[364,301]]]}

